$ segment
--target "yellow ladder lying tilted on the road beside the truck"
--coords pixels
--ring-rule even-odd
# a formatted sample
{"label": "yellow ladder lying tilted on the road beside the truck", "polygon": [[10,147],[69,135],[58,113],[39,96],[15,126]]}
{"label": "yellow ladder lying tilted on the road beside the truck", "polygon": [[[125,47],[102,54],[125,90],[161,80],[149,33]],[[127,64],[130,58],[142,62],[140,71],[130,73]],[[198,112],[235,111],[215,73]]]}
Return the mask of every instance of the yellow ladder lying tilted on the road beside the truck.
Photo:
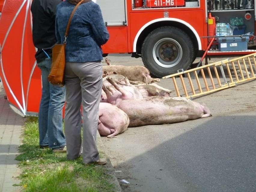
{"label": "yellow ladder lying tilted on the road beside the truck", "polygon": [[[164,76],[172,78],[177,97],[197,97],[256,79],[256,53]],[[198,75],[200,73],[200,76]]]}

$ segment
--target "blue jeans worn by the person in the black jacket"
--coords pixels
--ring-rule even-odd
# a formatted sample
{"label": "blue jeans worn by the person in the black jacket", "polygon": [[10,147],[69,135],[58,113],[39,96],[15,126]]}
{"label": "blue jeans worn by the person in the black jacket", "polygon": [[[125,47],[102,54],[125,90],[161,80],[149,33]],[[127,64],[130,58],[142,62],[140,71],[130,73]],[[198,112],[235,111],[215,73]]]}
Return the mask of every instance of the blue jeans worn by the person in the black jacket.
{"label": "blue jeans worn by the person in the black jacket", "polygon": [[58,148],[66,145],[62,129],[62,109],[65,103],[65,87],[52,85],[47,77],[51,58],[38,63],[42,76],[42,97],[38,113],[39,145]]}

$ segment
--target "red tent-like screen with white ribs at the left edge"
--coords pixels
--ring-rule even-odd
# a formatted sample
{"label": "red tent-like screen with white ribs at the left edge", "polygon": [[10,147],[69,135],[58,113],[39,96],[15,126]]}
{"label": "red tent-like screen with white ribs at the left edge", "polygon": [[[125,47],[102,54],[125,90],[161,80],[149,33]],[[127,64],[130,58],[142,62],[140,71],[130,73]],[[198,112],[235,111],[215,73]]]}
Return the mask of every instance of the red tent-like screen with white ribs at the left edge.
{"label": "red tent-like screen with white ribs at the left edge", "polygon": [[37,113],[41,71],[32,41],[32,0],[5,0],[0,19],[0,77],[11,104],[26,115]]}

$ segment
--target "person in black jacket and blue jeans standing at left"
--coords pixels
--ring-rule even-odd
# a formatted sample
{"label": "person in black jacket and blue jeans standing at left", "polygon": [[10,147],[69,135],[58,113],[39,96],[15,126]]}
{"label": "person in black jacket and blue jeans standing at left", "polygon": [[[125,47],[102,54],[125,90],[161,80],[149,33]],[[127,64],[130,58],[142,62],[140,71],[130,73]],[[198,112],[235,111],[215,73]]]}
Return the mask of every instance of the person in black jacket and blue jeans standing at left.
{"label": "person in black jacket and blue jeans standing at left", "polygon": [[62,128],[62,109],[65,103],[65,87],[54,86],[47,77],[52,64],[52,47],[56,44],[56,6],[61,0],[33,0],[32,36],[37,51],[35,58],[41,69],[42,97],[39,106],[39,145],[53,152],[66,152],[66,138]]}

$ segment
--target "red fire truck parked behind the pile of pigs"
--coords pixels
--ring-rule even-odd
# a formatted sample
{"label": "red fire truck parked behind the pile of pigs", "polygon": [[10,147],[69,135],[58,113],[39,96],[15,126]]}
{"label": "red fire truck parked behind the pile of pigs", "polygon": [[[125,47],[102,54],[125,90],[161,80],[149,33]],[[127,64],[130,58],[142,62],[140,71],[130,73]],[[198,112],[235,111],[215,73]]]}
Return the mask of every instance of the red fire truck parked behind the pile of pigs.
{"label": "red fire truck parked behind the pile of pigs", "polygon": [[215,22],[229,23],[231,18],[242,18],[243,33],[255,34],[255,5],[251,0],[96,0],[96,3],[110,33],[109,41],[102,47],[104,54],[131,53],[132,57],[142,57],[145,67],[157,77],[188,69],[200,52],[207,55],[256,52],[219,51],[216,40],[207,49],[211,39],[207,37],[215,35]]}

